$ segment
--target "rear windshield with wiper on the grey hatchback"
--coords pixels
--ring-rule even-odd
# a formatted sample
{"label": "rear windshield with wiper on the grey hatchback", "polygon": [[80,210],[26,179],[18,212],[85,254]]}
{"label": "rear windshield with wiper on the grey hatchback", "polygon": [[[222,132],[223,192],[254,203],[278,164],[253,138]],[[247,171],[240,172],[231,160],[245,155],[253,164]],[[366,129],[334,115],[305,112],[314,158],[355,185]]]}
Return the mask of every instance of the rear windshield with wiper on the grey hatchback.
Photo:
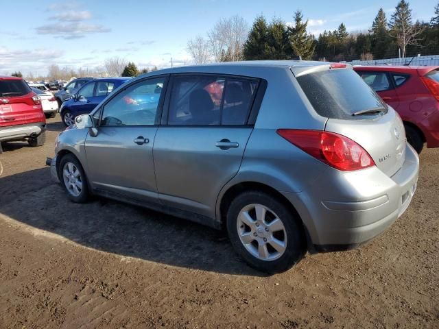
{"label": "rear windshield with wiper on the grey hatchback", "polygon": [[351,69],[330,69],[297,77],[314,110],[330,119],[366,119],[387,106]]}

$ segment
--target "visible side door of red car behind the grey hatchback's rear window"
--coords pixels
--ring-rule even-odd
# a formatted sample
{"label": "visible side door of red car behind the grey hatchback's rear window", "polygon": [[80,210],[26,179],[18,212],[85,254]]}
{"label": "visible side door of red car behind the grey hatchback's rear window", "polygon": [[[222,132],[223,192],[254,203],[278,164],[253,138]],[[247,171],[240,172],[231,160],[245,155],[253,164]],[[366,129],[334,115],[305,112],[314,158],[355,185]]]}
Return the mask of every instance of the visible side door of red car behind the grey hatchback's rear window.
{"label": "visible side door of red car behind the grey hatchback's rear window", "polygon": [[364,82],[395,110],[399,106],[399,96],[394,88],[392,77],[388,72],[358,71]]}

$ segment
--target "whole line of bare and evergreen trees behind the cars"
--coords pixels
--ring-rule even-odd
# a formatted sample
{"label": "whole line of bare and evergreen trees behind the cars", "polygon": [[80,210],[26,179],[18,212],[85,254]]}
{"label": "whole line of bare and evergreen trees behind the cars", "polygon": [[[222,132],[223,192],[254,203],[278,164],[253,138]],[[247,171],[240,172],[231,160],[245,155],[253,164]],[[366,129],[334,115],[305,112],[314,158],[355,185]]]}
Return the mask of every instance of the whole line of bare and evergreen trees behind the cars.
{"label": "whole line of bare and evergreen trees behind the cars", "polygon": [[277,18],[268,22],[260,15],[250,28],[244,19],[233,16],[219,21],[206,36],[189,40],[187,51],[195,64],[298,56],[338,62],[439,53],[439,2],[429,22],[414,21],[410,3],[401,0],[390,18],[380,8],[370,29],[362,32],[348,32],[340,23],[337,29],[314,36],[307,32],[308,23],[300,10],[292,23]]}

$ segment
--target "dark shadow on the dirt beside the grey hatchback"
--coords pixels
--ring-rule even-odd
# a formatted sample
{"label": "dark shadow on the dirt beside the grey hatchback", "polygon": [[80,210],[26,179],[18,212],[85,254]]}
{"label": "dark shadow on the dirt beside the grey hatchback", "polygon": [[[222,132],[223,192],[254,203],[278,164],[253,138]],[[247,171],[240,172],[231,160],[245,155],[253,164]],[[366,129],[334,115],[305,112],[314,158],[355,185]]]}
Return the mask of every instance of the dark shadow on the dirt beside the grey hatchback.
{"label": "dark shadow on the dirt beside the grey hatchback", "polygon": [[[49,169],[0,178],[0,214],[93,249],[217,273],[265,276],[233,251],[225,232],[108,199],[74,204]],[[34,186],[32,191],[29,187]],[[24,191],[24,193],[23,193]]]}

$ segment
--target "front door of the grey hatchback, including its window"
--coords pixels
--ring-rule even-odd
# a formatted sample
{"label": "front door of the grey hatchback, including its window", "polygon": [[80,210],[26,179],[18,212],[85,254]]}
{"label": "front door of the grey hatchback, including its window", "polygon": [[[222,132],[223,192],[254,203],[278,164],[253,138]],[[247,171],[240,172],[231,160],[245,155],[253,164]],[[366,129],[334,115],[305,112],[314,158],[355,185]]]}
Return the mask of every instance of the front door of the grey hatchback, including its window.
{"label": "front door of the grey hatchback, including its window", "polygon": [[166,79],[137,82],[100,108],[97,136],[88,134],[85,144],[88,178],[94,188],[139,201],[157,201],[152,148]]}

